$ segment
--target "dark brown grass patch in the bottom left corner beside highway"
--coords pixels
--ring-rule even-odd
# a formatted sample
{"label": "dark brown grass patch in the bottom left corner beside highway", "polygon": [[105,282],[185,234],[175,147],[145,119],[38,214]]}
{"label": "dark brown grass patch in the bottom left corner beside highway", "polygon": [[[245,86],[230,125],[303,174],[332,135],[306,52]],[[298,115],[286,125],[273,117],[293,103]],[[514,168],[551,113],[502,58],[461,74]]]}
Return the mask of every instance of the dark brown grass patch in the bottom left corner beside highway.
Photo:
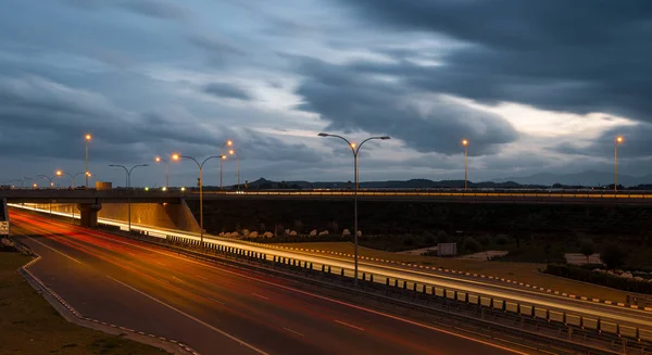
{"label": "dark brown grass patch in the bottom left corner beside highway", "polygon": [[0,246],[0,354],[166,354],[67,322],[16,272],[29,259]]}

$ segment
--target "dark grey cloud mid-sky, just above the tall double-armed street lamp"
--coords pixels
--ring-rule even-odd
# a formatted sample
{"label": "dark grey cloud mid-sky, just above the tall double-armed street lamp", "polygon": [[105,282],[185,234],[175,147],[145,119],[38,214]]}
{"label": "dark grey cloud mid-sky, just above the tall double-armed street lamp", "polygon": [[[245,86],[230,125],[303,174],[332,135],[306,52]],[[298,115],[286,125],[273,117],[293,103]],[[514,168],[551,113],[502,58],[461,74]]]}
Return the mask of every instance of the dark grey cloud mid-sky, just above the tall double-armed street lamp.
{"label": "dark grey cloud mid-sky, just above the tall double-armed street lamp", "polygon": [[424,113],[406,101],[414,89],[365,76],[355,66],[296,61],[304,76],[297,89],[304,99],[299,109],[318,113],[330,123],[327,129],[389,135],[419,152],[446,154],[459,153],[463,138],[474,142],[471,154],[488,154],[518,136],[503,118],[447,99],[429,98],[432,107]]}

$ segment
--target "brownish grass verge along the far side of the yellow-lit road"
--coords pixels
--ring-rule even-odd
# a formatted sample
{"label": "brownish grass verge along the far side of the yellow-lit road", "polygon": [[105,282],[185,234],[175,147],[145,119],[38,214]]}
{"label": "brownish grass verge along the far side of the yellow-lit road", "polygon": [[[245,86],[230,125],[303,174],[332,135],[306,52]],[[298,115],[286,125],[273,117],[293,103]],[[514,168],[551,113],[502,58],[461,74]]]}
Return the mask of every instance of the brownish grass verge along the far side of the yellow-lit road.
{"label": "brownish grass verge along the far side of the yellow-lit road", "polygon": [[[353,253],[353,244],[349,242],[304,242],[277,244],[292,248],[325,250],[339,253]],[[537,263],[507,263],[507,262],[480,262],[448,257],[422,256],[394,254],[368,248],[359,248],[361,256],[392,259],[401,263],[412,263],[428,266],[437,266],[460,271],[485,274],[498,276],[505,279],[516,280],[524,283],[536,284],[547,289],[557,290],[569,294],[584,295],[588,297],[625,302],[626,292],[607,289],[599,286],[587,284],[574,280],[562,279],[539,272],[546,264]]]}

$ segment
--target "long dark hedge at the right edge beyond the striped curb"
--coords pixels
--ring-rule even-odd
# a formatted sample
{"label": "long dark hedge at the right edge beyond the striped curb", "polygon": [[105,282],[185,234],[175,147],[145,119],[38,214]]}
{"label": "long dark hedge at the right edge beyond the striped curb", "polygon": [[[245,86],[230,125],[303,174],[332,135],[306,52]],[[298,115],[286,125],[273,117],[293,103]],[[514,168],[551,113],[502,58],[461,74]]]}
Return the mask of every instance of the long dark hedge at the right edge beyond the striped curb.
{"label": "long dark hedge at the right edge beyond the striped curb", "polygon": [[549,264],[546,268],[546,274],[600,284],[623,291],[652,294],[652,282],[626,279],[606,272],[593,272],[589,269],[578,266]]}

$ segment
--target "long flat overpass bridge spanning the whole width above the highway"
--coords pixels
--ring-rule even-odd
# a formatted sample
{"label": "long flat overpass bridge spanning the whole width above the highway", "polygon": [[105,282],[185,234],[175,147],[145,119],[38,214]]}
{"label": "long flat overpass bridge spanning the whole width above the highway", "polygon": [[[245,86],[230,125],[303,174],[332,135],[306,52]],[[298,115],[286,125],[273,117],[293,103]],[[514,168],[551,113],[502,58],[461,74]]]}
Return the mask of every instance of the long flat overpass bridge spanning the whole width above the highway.
{"label": "long flat overpass bridge spanning the whole width above the highway", "polygon": [[[351,200],[351,190],[262,190],[203,192],[204,200]],[[367,201],[424,201],[441,203],[501,203],[501,204],[602,204],[652,205],[652,191],[592,191],[592,190],[367,190],[358,191],[360,200]],[[97,214],[102,204],[159,204],[184,205],[186,200],[199,199],[197,190],[180,189],[8,189],[0,190],[0,199],[9,203],[76,204],[82,226],[97,226]],[[167,208],[170,210],[170,208]],[[177,208],[181,211],[184,208]],[[179,212],[180,213],[180,212]],[[130,212],[129,212],[130,214]],[[170,214],[170,212],[168,212]],[[177,212],[173,213],[177,215]],[[183,212],[187,217],[189,214]],[[173,219],[178,219],[173,217]]]}

